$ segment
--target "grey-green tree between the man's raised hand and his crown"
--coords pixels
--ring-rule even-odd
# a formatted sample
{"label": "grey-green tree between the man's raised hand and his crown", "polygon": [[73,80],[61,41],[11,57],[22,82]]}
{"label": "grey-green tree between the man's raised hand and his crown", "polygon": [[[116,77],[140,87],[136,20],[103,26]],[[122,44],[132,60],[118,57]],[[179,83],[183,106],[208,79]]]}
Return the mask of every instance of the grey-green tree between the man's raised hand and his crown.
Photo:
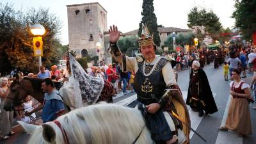
{"label": "grey-green tree between the man's raised hand and his crown", "polygon": [[123,38],[120,38],[117,44],[120,47],[120,51],[122,53],[126,53],[129,47],[138,47],[139,45],[136,36],[125,36]]}

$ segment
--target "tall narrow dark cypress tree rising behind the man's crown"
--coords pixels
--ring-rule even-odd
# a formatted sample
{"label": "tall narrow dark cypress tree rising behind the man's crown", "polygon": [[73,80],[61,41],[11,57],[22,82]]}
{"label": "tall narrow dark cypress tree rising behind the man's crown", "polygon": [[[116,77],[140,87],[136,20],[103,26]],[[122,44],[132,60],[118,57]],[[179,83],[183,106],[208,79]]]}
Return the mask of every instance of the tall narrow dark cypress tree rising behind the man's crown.
{"label": "tall narrow dark cypress tree rising behind the man's crown", "polygon": [[[157,19],[156,15],[154,13],[154,0],[143,0],[142,4],[142,20],[140,22],[140,28],[138,31],[138,36],[141,36],[141,26],[142,24],[147,24],[148,30],[150,31],[150,35],[153,34],[154,37],[154,44],[157,45],[157,47],[160,46],[161,40],[159,36],[159,32],[157,30]],[[161,26],[161,25],[160,25]]]}

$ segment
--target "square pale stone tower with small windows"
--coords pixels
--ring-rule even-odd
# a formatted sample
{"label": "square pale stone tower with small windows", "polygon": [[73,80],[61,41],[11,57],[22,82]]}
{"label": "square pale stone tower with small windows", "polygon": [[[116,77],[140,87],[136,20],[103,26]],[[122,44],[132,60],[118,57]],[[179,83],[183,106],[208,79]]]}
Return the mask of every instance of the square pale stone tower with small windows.
{"label": "square pale stone tower with small windows", "polygon": [[107,11],[99,3],[67,5],[69,48],[76,56],[104,56]]}

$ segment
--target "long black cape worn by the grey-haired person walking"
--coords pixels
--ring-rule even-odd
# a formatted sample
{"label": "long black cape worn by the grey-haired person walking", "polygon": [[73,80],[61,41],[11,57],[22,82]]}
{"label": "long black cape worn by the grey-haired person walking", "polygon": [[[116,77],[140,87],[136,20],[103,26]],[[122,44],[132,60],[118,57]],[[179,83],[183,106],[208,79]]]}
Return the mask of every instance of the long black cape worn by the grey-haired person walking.
{"label": "long black cape worn by the grey-haired person walking", "polygon": [[[190,81],[191,81],[192,76],[193,76],[193,70],[191,70],[191,74],[189,77],[188,97],[187,97],[187,101],[186,101],[186,104],[188,104],[189,106],[191,106],[191,102],[189,102],[189,100],[191,99]],[[217,112],[218,108],[217,108],[215,100],[213,98],[209,81],[207,79],[207,76],[206,76],[204,70],[202,70],[202,68],[198,69],[198,79],[199,79],[199,99],[200,99],[200,102],[205,104],[205,106],[203,107],[205,113],[212,114],[212,113]]]}

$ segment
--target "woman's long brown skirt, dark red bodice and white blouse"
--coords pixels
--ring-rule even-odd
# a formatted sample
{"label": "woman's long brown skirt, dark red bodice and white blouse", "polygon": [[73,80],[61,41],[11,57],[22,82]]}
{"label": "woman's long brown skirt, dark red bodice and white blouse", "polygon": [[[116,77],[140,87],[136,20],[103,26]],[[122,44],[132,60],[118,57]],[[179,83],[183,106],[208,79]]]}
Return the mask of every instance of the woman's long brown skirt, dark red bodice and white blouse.
{"label": "woman's long brown skirt, dark red bodice and white blouse", "polygon": [[[236,85],[234,81],[230,83],[231,90],[236,93],[244,93],[244,89],[249,87],[244,81],[240,81]],[[231,95],[225,128],[235,131],[238,134],[252,134],[249,102],[246,98]]]}

